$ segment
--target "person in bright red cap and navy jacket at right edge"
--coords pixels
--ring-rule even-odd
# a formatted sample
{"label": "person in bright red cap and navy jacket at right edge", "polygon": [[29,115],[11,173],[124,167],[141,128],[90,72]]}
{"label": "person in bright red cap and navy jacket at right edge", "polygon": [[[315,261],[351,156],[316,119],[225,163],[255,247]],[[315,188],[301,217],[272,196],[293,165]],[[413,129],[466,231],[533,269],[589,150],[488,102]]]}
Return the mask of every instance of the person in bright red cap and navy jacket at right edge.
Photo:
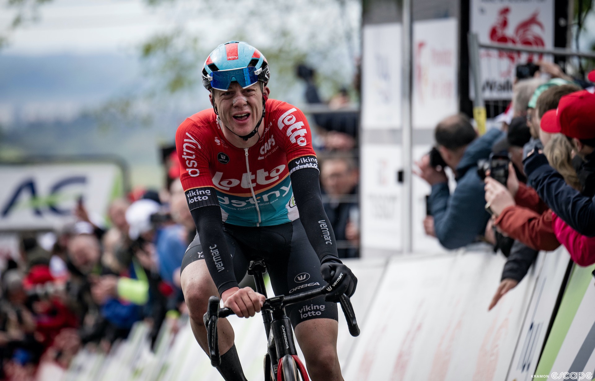
{"label": "person in bright red cap and navy jacket at right edge", "polygon": [[[560,99],[551,133],[562,132],[572,142],[575,152],[593,166],[595,161],[595,95],[577,91]],[[549,118],[547,113],[544,118]],[[541,150],[532,150],[524,160],[529,183],[556,215],[585,236],[595,236],[595,199],[581,195],[566,185],[562,175],[554,170]]]}

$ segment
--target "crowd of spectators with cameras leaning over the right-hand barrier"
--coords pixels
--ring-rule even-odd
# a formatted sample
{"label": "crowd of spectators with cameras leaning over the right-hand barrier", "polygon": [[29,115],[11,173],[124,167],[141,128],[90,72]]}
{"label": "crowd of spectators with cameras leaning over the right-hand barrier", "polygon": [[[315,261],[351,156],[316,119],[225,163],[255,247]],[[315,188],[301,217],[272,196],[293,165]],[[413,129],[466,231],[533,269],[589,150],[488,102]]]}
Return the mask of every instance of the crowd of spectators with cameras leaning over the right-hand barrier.
{"label": "crowd of spectators with cameras leaning over the right-hand barrier", "polygon": [[563,245],[577,265],[595,263],[595,71],[586,80],[552,63],[541,71],[553,78],[515,82],[502,129],[478,136],[465,115],[450,116],[416,163],[431,186],[426,233],[446,249],[486,242],[506,256],[490,309],[540,250]]}

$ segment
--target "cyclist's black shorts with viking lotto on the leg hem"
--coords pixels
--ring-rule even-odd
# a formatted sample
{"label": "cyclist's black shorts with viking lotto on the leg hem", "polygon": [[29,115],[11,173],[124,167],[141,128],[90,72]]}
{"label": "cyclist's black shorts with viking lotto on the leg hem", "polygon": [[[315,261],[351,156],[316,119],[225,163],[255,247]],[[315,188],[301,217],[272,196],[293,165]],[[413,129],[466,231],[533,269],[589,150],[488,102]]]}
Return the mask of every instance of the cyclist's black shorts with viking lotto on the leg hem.
{"label": "cyclist's black shorts with viking lotto on the leg hem", "polygon": [[[320,275],[320,259],[312,249],[300,220],[290,223],[246,227],[224,224],[227,243],[233,257],[237,282],[246,275],[250,261],[264,259],[275,295],[293,295],[326,284]],[[205,259],[198,234],[186,250],[181,271],[194,261]],[[293,304],[286,308],[293,328],[305,320],[339,320],[337,303],[324,297]]]}

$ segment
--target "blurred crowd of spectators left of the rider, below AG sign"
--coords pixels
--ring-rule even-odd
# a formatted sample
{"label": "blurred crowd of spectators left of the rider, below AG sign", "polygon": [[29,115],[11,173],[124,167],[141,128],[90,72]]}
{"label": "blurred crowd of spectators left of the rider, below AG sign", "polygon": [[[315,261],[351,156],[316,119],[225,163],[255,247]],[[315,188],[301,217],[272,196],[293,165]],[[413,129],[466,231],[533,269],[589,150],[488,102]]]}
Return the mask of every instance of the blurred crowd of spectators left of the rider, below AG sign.
{"label": "blurred crowd of spectators left of the rider, below AG sign", "polygon": [[135,193],[111,202],[109,228],[81,200],[59,230],[22,234],[2,272],[0,379],[32,380],[45,361],[67,367],[83,346],[107,352],[139,320],[154,345],[164,320],[186,311],[179,269],[195,227],[180,182],[165,199]]}

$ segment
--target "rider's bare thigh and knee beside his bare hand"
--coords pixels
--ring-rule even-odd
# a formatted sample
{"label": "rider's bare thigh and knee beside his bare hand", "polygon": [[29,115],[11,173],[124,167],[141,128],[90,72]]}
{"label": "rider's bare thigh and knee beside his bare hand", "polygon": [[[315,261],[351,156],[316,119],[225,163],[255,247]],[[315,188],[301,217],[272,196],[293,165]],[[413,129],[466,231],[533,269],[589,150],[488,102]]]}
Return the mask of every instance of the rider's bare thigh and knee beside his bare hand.
{"label": "rider's bare thigh and knee beside his bare hand", "polygon": [[190,318],[202,322],[209,297],[219,295],[205,260],[201,259],[186,265],[180,274],[180,283]]}

